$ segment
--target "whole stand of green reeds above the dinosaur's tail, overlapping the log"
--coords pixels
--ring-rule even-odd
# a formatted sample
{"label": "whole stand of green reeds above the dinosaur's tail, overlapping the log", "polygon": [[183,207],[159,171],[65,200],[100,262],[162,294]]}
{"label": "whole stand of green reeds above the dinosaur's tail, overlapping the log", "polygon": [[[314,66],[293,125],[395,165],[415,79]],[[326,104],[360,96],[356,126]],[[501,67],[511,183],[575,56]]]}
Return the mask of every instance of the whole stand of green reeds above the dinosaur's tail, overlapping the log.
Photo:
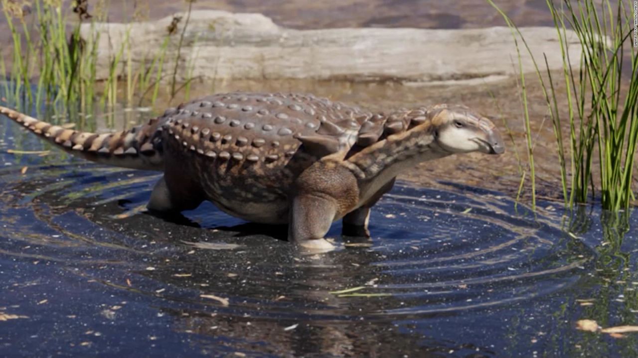
{"label": "whole stand of green reeds above the dinosaur's tail, overlapping the log", "polygon": [[[106,78],[98,80],[98,41],[100,36],[108,36],[96,31],[96,24],[106,20],[106,11],[96,16],[87,12],[87,1],[74,1],[64,5],[61,0],[0,0],[4,17],[11,32],[13,55],[5,63],[0,59],[0,75],[6,82],[4,96],[11,97],[12,103],[63,104],[78,106],[84,113],[93,111],[94,104],[115,106],[124,99],[130,106],[134,99],[139,103],[150,101],[153,105],[158,96],[165,75],[164,64],[167,61],[167,49],[171,43],[179,20],[167,29],[165,40],[159,51],[149,54],[135,71],[133,70],[132,49],[128,41],[129,32],[121,48],[114,48],[108,59]],[[28,5],[29,11],[24,11]],[[78,6],[82,6],[78,11]],[[75,6],[75,8],[73,7]],[[98,1],[98,7],[106,8],[108,0]],[[77,22],[70,24],[77,13]],[[188,4],[188,14],[191,3]],[[80,25],[89,24],[89,38],[80,36]],[[181,45],[185,24],[177,51],[176,66],[181,55]],[[119,69],[124,66],[124,73]],[[187,84],[192,71],[187,73]],[[170,96],[175,97],[182,87],[177,87],[176,73],[173,83],[169,83]],[[124,85],[121,85],[121,81]],[[13,83],[9,86],[8,83]],[[185,87],[188,89],[188,85]],[[122,90],[121,90],[122,89]],[[10,90],[10,93],[9,93]],[[150,98],[146,95],[151,94]],[[122,98],[123,97],[123,98]],[[97,100],[97,102],[96,102]]]}

